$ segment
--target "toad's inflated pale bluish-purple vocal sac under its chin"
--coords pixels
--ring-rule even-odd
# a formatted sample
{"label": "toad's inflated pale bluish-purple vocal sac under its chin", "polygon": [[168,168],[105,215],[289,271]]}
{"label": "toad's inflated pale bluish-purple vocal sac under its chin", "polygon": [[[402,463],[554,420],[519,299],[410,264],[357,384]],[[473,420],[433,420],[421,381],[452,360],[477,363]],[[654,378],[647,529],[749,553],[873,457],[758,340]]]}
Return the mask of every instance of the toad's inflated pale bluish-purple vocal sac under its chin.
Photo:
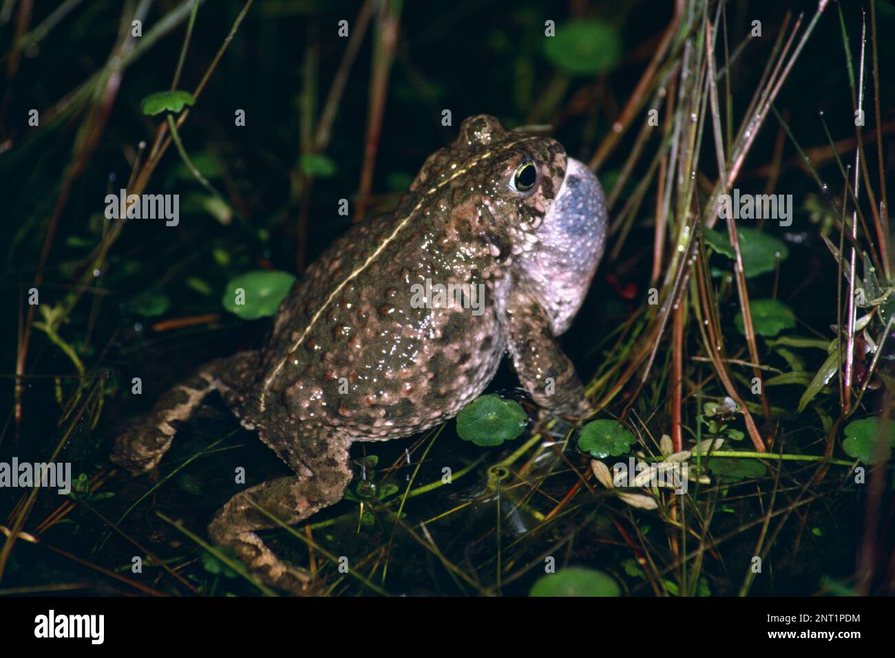
{"label": "toad's inflated pale bluish-purple vocal sac under its chin", "polygon": [[556,335],[581,308],[606,244],[606,198],[584,163],[567,158],[566,176],[536,232],[526,270]]}

